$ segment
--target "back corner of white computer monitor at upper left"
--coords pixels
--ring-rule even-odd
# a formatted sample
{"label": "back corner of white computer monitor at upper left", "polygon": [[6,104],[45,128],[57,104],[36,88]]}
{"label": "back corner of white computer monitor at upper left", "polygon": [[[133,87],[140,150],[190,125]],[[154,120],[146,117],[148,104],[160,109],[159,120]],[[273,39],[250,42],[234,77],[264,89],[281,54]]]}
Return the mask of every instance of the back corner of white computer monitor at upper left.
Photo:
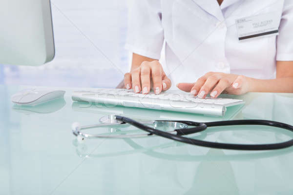
{"label": "back corner of white computer monitor at upper left", "polygon": [[36,66],[54,56],[50,0],[1,0],[0,63]]}

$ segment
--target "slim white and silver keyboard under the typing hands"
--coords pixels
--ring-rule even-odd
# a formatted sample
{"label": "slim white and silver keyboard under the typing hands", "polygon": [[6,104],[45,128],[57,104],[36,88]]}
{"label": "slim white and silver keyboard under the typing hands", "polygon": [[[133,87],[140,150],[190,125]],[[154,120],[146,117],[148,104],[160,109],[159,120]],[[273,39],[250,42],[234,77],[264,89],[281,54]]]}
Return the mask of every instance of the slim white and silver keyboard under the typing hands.
{"label": "slim white and silver keyboard under the typing hands", "polygon": [[146,95],[136,94],[131,89],[75,91],[72,94],[72,100],[217,116],[224,116],[226,107],[245,103],[241,99],[210,97],[201,99],[181,91],[167,91],[159,95],[153,92]]}

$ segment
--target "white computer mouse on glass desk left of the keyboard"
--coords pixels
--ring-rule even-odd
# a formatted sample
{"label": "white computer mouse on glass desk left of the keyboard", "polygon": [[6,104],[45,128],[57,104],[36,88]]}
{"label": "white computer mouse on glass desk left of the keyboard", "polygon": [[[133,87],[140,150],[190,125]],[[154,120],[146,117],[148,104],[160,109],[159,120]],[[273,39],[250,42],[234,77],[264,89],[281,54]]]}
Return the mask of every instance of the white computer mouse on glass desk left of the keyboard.
{"label": "white computer mouse on glass desk left of the keyboard", "polygon": [[34,106],[40,103],[63,98],[65,91],[46,89],[26,89],[14,94],[11,101],[19,105]]}

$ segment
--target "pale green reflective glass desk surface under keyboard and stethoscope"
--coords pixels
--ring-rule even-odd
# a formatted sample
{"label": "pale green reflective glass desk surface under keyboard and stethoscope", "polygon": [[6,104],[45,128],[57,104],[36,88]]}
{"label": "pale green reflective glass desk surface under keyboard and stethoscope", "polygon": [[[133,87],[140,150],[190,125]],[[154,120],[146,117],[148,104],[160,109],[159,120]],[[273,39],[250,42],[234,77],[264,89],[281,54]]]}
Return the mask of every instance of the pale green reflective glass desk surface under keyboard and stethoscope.
{"label": "pale green reflective glass desk surface under keyboard and stethoscope", "polygon": [[[238,98],[246,101],[245,106],[228,109],[222,118],[78,103],[70,98],[72,89],[64,89],[64,100],[23,109],[10,101],[23,88],[0,85],[1,195],[293,193],[293,148],[219,150],[162,137],[78,143],[70,129],[74,121],[94,124],[110,113],[194,121],[268,119],[293,125],[293,94],[243,95]],[[273,143],[292,136],[285,130],[260,126],[212,128],[192,135],[230,143]]]}

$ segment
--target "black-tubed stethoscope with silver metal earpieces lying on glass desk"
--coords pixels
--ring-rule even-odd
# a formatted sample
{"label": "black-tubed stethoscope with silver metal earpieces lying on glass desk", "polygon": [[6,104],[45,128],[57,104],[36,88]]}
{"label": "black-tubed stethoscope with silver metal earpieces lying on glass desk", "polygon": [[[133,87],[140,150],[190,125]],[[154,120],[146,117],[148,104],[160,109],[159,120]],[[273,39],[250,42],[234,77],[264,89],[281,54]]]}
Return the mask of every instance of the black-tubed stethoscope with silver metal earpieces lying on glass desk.
{"label": "black-tubed stethoscope with silver metal earpieces lying on glass desk", "polygon": [[[224,121],[215,121],[215,122],[194,122],[194,121],[185,121],[185,120],[153,120],[153,121],[144,121],[144,124],[133,120],[128,117],[122,117],[119,115],[109,115],[106,117],[100,118],[100,124],[80,126],[79,123],[72,124],[72,131],[75,136],[78,137],[79,141],[84,140],[85,138],[135,138],[135,137],[148,137],[157,135],[160,137],[166,137],[175,141],[180,141],[183,143],[188,143],[191,145],[209,147],[209,148],[218,148],[218,149],[230,149],[230,150],[275,150],[287,148],[293,145],[293,139],[272,144],[230,144],[230,143],[218,143],[211,141],[204,141],[199,139],[194,139],[191,137],[184,137],[186,135],[202,132],[208,127],[216,126],[230,126],[230,125],[264,125],[278,127],[282,129],[287,129],[293,132],[293,126],[277,121],[271,120],[224,120]],[[134,135],[101,135],[101,134],[87,134],[83,133],[82,130],[95,128],[95,127],[105,127],[105,126],[114,126],[114,125],[132,125],[138,129],[146,131],[147,134],[134,134]],[[150,127],[148,125],[152,125]],[[174,128],[172,131],[161,131],[157,127],[162,125],[168,125]],[[188,126],[192,126],[188,128]]]}

